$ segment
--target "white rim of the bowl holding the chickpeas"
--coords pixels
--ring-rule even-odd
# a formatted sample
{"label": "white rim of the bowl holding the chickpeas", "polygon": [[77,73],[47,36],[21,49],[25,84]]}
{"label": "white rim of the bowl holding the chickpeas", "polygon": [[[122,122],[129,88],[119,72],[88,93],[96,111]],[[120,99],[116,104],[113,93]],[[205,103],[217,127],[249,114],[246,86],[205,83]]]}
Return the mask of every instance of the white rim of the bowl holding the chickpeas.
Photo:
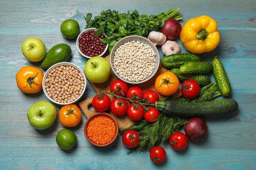
{"label": "white rim of the bowl holding the chickpeas", "polygon": [[[61,103],[61,102],[58,102],[58,101],[55,101],[52,97],[50,97],[49,93],[47,93],[47,90],[46,90],[46,79],[47,79],[47,76],[49,75],[49,73],[51,73],[51,71],[56,68],[56,67],[60,67],[60,66],[71,66],[71,67],[74,67],[75,69],[77,69],[79,71],[79,73],[81,73],[81,75],[83,76],[83,90],[82,92],[79,94],[78,97],[75,97],[74,100],[70,101],[70,102],[66,102],[66,103]],[[54,64],[53,66],[51,66],[49,69],[47,69],[45,75],[43,76],[43,92],[45,93],[45,95],[47,96],[47,98],[49,100],[51,100],[53,103],[56,103],[58,105],[68,105],[68,104],[72,104],[72,103],[75,103],[77,102],[82,96],[83,96],[83,93],[85,93],[85,89],[86,89],[86,77],[85,77],[85,73],[83,73],[83,70],[81,70],[77,65],[75,65],[74,63],[70,63],[70,62],[60,62],[60,63],[56,63]]]}

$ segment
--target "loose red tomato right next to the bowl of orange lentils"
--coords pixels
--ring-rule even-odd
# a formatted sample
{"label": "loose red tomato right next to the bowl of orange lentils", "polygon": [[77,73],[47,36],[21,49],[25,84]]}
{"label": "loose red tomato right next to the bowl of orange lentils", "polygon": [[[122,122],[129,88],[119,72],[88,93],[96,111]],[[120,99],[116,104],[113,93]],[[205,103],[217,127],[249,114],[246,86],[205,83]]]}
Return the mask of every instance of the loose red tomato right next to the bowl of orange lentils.
{"label": "loose red tomato right next to the bowl of orange lentils", "polygon": [[140,143],[140,134],[136,130],[128,129],[123,132],[122,141],[127,148],[135,148]]}

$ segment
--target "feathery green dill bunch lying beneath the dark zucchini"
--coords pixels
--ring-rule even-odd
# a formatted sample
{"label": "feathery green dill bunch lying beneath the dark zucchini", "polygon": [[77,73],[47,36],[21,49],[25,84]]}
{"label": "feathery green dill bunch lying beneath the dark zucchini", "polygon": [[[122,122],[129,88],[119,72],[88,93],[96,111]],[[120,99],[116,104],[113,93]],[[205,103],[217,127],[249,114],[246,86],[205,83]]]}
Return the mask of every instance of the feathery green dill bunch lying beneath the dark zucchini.
{"label": "feathery green dill bunch lying beneath the dark zucchini", "polygon": [[[196,103],[203,101],[211,101],[213,98],[218,97],[221,93],[218,92],[217,84],[215,82],[211,82],[207,86],[203,86],[201,88],[198,97],[194,99],[186,99],[184,97],[179,97],[174,99],[179,103]],[[173,99],[173,95],[169,97],[165,97],[163,101],[168,101]],[[121,131],[125,131],[127,129],[134,129],[139,131],[140,133],[140,143],[136,148],[132,148],[128,154],[131,154],[135,151],[146,152],[150,150],[153,146],[156,146],[160,143],[165,143],[171,134],[176,131],[179,131],[181,127],[183,127],[187,118],[178,118],[178,117],[167,117],[163,114],[160,114],[160,117],[154,123],[148,123],[146,120],[142,120],[137,124],[128,127],[122,128]]]}

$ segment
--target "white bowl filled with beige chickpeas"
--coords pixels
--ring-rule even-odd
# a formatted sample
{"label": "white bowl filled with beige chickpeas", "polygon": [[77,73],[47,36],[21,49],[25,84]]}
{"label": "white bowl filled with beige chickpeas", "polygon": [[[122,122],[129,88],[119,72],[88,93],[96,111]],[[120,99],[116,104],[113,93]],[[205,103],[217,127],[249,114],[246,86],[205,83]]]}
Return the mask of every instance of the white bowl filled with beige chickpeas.
{"label": "white bowl filled with beige chickpeas", "polygon": [[58,105],[76,103],[81,99],[85,88],[85,74],[74,63],[56,63],[43,76],[43,92]]}

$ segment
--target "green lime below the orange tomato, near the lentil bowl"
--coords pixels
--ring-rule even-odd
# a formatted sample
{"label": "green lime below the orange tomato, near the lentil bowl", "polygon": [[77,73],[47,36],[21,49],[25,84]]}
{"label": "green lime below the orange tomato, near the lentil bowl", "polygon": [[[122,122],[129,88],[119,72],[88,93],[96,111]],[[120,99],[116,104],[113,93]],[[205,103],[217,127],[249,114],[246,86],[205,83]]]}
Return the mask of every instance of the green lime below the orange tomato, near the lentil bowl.
{"label": "green lime below the orange tomato, near the lentil bowl", "polygon": [[63,150],[70,150],[77,143],[76,135],[70,129],[62,129],[56,135],[56,143]]}

